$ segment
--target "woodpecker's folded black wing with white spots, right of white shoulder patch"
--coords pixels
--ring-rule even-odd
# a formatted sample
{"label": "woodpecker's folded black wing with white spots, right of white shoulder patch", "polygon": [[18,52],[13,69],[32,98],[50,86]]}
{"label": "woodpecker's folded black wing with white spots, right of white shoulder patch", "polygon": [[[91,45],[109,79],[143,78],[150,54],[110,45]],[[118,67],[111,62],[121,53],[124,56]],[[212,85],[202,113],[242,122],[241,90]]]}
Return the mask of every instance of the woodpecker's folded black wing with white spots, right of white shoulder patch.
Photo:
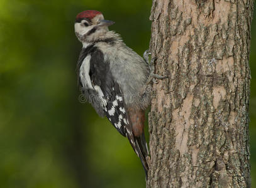
{"label": "woodpecker's folded black wing with white spots, right of white shoulder patch", "polygon": [[103,105],[106,117],[121,135],[126,136],[129,126],[125,101],[120,86],[114,81],[109,70],[109,63],[104,62],[103,53],[99,50],[91,53],[89,76],[92,87],[97,91],[98,99]]}

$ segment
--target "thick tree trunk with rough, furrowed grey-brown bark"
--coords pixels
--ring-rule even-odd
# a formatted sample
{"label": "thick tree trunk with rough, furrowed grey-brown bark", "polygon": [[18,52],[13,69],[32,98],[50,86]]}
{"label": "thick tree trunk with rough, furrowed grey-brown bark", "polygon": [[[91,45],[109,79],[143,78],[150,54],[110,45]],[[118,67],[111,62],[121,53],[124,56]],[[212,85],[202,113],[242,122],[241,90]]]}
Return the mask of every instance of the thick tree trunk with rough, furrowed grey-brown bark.
{"label": "thick tree trunk with rough, furrowed grey-brown bark", "polygon": [[147,187],[250,187],[252,0],[153,0]]}

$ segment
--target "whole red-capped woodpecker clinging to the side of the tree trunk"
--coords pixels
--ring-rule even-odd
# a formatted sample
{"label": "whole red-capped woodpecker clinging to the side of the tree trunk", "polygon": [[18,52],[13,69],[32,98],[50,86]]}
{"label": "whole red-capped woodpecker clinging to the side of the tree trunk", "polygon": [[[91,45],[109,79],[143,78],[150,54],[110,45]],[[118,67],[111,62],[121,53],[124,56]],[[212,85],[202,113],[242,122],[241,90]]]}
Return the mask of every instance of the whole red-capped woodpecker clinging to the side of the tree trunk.
{"label": "whole red-capped woodpecker clinging to the side of the tree trunk", "polygon": [[86,100],[100,117],[127,137],[140,158],[146,176],[149,155],[144,135],[145,108],[150,102],[147,85],[158,76],[145,60],[128,48],[120,35],[109,31],[114,21],[105,20],[99,11],[87,10],[75,18],[75,35],[82,43],[77,62],[77,82]]}

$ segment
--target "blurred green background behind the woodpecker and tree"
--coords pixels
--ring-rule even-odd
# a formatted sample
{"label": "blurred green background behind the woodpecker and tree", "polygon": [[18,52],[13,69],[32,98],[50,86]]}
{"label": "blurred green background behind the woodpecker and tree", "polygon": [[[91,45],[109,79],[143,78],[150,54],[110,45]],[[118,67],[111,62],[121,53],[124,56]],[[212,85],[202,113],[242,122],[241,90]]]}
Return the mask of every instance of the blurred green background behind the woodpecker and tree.
{"label": "blurred green background behind the woodpecker and tree", "polygon": [[[116,22],[140,55],[150,41],[148,0],[0,0],[0,187],[145,187],[131,149],[106,118],[79,102],[77,13]],[[255,17],[255,16],[254,16]],[[256,20],[252,23],[250,145],[256,187]]]}

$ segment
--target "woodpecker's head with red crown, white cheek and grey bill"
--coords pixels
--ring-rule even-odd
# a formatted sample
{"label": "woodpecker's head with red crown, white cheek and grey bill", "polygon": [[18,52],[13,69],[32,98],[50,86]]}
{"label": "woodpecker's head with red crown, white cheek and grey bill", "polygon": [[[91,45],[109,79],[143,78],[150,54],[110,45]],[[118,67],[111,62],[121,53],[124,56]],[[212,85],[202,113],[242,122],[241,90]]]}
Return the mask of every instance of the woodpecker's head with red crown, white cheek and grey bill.
{"label": "woodpecker's head with red crown, white cheek and grey bill", "polygon": [[75,34],[82,42],[92,41],[97,36],[108,32],[108,26],[112,24],[114,22],[105,20],[99,11],[83,11],[75,18]]}

